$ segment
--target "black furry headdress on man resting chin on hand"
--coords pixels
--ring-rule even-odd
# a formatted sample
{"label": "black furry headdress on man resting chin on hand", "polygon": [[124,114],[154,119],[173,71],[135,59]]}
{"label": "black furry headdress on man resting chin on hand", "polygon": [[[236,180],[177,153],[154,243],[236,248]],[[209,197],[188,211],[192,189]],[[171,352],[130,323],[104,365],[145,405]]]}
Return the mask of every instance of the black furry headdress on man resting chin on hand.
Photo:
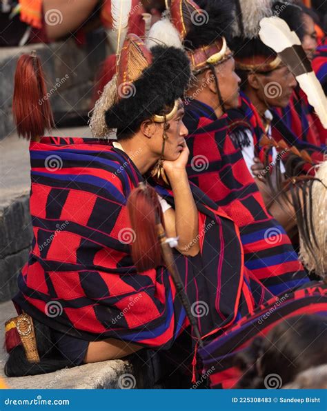
{"label": "black furry headdress on man resting chin on hand", "polygon": [[132,83],[133,95],[106,111],[108,128],[117,128],[120,136],[135,133],[142,121],[172,108],[190,81],[190,61],[184,51],[155,46],[151,52],[151,65]]}

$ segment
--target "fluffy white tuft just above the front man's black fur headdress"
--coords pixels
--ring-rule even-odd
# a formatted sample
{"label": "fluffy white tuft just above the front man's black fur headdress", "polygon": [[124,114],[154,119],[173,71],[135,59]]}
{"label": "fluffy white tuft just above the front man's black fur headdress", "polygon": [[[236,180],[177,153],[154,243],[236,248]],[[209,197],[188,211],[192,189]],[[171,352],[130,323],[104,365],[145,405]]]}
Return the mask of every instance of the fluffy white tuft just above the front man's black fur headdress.
{"label": "fluffy white tuft just above the front man's black fur headdress", "polygon": [[146,46],[148,48],[162,43],[166,46],[174,46],[184,50],[179,32],[169,17],[164,17],[164,19],[157,21],[157,23],[150,28],[148,38],[146,39]]}

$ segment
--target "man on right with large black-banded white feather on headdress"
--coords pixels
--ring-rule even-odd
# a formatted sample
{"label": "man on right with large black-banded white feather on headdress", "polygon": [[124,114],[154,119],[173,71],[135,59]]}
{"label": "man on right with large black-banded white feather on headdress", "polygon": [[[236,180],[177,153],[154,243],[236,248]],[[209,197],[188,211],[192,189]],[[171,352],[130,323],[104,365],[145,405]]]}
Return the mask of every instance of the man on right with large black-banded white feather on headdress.
{"label": "man on right with large black-banded white feather on headdress", "polygon": [[320,214],[326,213],[324,153],[298,139],[273,110],[288,105],[298,82],[327,128],[326,96],[310,65],[308,50],[301,47],[303,12],[289,2],[272,5],[267,1],[266,10],[256,8],[255,2],[237,1],[237,6],[239,19],[232,33],[232,48],[242,92],[239,108],[228,110],[231,137],[245,157],[248,152],[263,155],[269,169],[261,192],[270,189],[270,202],[281,203],[279,210],[288,207],[295,212],[294,239],[299,243],[301,261],[310,272],[324,272],[327,225]]}

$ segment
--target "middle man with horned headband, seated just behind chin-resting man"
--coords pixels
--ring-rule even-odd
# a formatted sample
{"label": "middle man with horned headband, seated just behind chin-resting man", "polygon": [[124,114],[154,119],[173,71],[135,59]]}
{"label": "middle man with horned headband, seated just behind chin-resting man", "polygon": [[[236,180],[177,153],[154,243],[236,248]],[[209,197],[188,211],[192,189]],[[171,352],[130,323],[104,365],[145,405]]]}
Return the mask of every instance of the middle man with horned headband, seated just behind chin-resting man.
{"label": "middle man with horned headband, seated just behind chin-resting man", "polygon": [[[188,177],[239,225],[246,267],[274,294],[286,292],[308,278],[284,228],[266,210],[241,150],[228,135],[224,110],[237,106],[240,81],[232,53],[221,37],[232,19],[230,8],[204,1],[209,18],[188,31],[187,13],[193,2],[188,0],[185,8],[180,3],[172,1],[172,23],[181,19],[175,26],[181,37],[186,34],[184,44],[194,74],[184,120],[189,132]],[[199,9],[194,3],[193,7]],[[182,13],[177,19],[179,10]],[[203,11],[198,13],[203,17]],[[152,31],[155,33],[155,26]]]}

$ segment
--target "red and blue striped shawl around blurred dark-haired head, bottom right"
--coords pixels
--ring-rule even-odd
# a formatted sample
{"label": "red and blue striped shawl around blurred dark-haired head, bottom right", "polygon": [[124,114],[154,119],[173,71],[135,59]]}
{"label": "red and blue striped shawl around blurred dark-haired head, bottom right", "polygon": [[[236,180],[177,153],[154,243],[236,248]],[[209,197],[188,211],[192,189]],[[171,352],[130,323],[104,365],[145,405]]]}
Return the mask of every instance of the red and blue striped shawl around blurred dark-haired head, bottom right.
{"label": "red and blue striped shawl around blurred dark-haired head, bottom right", "polygon": [[303,314],[326,316],[326,285],[317,283],[293,293],[281,294],[261,305],[254,314],[241,319],[224,334],[211,334],[208,338],[212,341],[198,351],[204,372],[210,376],[211,388],[235,388],[241,377],[241,372],[235,368],[235,355],[248,347],[255,337],[264,337],[280,321]]}

